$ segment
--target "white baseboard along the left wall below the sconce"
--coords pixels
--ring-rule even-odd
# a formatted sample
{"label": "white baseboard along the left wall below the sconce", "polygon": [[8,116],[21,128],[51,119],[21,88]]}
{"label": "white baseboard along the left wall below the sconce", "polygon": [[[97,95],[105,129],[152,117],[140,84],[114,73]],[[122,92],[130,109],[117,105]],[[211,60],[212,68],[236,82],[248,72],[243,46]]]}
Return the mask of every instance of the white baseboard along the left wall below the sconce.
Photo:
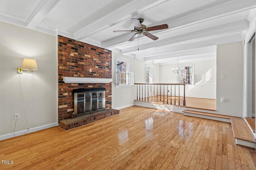
{"label": "white baseboard along the left wall below the sconce", "polygon": [[24,133],[28,134],[28,133],[40,131],[40,130],[43,130],[43,129],[48,129],[50,127],[55,127],[55,126],[58,126],[58,122],[50,123],[48,125],[42,125],[42,126],[30,128],[27,133],[26,133],[27,130],[18,131],[18,132],[15,132],[15,133],[8,133],[6,135],[1,135],[0,136],[0,141],[2,141],[4,139],[9,139],[9,138],[12,138],[12,137],[15,137],[15,136],[17,137],[17,136],[20,136],[20,135],[24,135]]}

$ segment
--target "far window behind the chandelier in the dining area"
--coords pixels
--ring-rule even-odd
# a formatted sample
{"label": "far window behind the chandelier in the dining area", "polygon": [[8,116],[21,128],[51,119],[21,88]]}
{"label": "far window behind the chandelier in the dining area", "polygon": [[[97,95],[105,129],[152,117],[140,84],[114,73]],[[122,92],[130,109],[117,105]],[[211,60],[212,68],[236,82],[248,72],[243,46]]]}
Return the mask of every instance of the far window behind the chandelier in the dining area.
{"label": "far window behind the chandelier in the dining area", "polygon": [[178,83],[194,84],[194,65],[179,67]]}

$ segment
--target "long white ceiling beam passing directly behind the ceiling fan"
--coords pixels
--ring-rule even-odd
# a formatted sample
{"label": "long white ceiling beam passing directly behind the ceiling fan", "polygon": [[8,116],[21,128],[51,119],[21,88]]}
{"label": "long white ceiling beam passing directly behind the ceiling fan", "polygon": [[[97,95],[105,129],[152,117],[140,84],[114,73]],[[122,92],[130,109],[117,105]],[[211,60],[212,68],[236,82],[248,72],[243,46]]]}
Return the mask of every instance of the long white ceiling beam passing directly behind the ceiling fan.
{"label": "long white ceiling beam passing directly behind the ceiling fan", "polygon": [[[234,1],[236,2],[234,3]],[[178,18],[168,18],[166,20],[155,23],[155,25],[167,23],[169,25],[168,30],[164,30],[161,32],[172,31],[175,29],[180,29],[182,27],[188,27],[189,25],[194,25],[196,23],[210,21],[216,18],[229,16],[231,14],[236,14],[239,12],[250,10],[252,8],[256,8],[255,0],[232,0],[211,6],[204,10],[193,12],[191,14],[186,14]],[[157,33],[160,33],[160,31],[155,33],[157,35]],[[111,48],[126,43],[127,41],[127,35],[125,35],[124,37],[119,37],[118,39],[109,39],[108,41],[104,41],[102,42],[102,46],[104,48]]]}

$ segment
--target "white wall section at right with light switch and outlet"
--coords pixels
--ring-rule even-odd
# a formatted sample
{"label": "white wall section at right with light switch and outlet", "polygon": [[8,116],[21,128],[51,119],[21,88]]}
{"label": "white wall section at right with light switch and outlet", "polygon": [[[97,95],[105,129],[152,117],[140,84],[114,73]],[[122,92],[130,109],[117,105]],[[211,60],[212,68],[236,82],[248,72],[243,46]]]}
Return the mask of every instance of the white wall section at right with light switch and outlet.
{"label": "white wall section at right with light switch and outlet", "polygon": [[[225,79],[221,79],[224,75]],[[243,45],[242,42],[217,45],[216,109],[220,114],[242,117]],[[225,98],[225,103],[220,99]]]}

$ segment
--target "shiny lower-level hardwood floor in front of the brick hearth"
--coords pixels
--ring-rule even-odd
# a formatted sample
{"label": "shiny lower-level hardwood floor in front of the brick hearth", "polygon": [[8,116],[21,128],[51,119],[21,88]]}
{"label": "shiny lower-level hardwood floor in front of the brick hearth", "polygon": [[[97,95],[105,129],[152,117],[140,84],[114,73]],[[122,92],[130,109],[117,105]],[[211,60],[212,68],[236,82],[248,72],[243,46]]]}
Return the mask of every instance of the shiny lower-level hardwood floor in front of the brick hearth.
{"label": "shiny lower-level hardwood floor in front of the brick hearth", "polygon": [[230,123],[144,107],[64,131],[58,127],[0,141],[0,169],[256,169]]}

